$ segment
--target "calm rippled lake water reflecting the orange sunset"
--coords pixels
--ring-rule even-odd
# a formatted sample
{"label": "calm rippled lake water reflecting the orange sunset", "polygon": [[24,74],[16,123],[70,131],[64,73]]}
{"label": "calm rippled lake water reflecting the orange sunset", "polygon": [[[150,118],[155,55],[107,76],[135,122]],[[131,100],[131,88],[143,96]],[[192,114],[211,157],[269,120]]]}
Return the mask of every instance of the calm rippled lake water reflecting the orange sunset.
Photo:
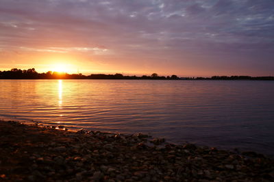
{"label": "calm rippled lake water reflecting the orange sunset", "polygon": [[0,80],[0,118],[274,155],[274,82]]}

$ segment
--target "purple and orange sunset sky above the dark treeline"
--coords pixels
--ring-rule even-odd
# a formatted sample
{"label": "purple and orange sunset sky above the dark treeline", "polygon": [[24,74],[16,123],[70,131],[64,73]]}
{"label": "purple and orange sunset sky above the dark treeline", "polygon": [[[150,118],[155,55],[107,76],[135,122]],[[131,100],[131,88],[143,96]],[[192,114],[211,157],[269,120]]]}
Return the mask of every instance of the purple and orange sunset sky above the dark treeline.
{"label": "purple and orange sunset sky above the dark treeline", "polygon": [[0,70],[274,76],[273,0],[0,0]]}

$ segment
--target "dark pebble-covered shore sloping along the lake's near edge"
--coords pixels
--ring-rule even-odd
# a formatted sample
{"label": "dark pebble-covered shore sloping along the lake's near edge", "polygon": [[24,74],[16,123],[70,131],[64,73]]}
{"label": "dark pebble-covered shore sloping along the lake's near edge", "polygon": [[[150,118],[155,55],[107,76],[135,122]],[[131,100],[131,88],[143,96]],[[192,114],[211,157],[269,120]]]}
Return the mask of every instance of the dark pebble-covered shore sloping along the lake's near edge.
{"label": "dark pebble-covered shore sloping along the lake's near edge", "polygon": [[0,181],[274,181],[274,160],[145,134],[0,121]]}

